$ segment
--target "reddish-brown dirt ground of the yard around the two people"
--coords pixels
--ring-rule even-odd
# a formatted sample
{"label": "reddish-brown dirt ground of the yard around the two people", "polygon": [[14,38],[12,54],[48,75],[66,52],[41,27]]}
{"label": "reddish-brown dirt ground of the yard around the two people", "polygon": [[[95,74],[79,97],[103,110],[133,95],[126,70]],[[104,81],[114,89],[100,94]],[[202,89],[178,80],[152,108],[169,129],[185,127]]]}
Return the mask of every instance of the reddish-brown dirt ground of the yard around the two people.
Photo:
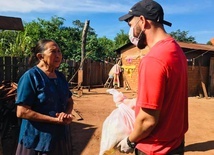
{"label": "reddish-brown dirt ground of the yard around the two people", "polygon": [[[107,88],[83,90],[81,97],[73,96],[74,109],[80,117],[72,124],[73,155],[98,155],[102,125],[116,108]],[[127,98],[136,93],[117,89]],[[78,115],[77,115],[78,116]],[[122,153],[115,152],[113,155]],[[214,155],[214,98],[189,97],[189,130],[185,137],[185,155]]]}

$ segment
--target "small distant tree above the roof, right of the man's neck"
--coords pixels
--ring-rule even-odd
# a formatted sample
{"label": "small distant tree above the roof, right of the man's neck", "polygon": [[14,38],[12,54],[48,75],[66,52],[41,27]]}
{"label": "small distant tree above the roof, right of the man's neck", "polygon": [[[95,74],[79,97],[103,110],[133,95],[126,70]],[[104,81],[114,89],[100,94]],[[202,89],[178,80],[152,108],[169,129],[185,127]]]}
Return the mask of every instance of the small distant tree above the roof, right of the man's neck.
{"label": "small distant tree above the roof, right of the man's neck", "polygon": [[181,31],[180,29],[178,29],[177,31],[172,31],[169,34],[177,41],[196,43],[195,38],[193,36],[188,36],[188,33],[188,31]]}

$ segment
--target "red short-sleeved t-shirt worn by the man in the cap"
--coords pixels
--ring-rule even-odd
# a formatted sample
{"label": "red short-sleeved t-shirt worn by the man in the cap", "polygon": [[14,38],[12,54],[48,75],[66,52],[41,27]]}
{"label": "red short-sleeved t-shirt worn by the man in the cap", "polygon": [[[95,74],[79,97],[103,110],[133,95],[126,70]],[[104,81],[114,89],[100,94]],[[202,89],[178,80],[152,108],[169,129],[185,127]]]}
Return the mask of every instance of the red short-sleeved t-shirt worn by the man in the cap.
{"label": "red short-sleeved t-shirt worn by the man in the cap", "polygon": [[148,155],[175,149],[188,130],[187,60],[171,37],[159,41],[139,65],[136,116],[140,108],[159,110],[159,121],[137,148]]}

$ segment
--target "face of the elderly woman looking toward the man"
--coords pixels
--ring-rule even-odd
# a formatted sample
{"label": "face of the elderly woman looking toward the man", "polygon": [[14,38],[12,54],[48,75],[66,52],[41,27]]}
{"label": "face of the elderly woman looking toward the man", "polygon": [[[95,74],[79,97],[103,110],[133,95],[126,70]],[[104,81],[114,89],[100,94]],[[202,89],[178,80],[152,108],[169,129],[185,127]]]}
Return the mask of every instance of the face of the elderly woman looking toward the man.
{"label": "face of the elderly woman looking toward the man", "polygon": [[43,52],[44,63],[52,68],[58,68],[62,61],[62,53],[55,42],[48,42]]}

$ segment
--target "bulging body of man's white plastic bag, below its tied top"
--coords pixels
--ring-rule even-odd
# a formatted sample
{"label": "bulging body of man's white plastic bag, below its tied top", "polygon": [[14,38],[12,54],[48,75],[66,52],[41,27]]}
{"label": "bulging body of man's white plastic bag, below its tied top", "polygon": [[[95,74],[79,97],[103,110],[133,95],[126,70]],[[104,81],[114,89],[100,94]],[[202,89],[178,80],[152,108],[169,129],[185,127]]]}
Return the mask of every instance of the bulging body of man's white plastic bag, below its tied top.
{"label": "bulging body of man's white plastic bag, below its tied top", "polygon": [[112,153],[114,147],[133,130],[134,110],[124,103],[118,104],[117,107],[103,123],[99,155]]}

